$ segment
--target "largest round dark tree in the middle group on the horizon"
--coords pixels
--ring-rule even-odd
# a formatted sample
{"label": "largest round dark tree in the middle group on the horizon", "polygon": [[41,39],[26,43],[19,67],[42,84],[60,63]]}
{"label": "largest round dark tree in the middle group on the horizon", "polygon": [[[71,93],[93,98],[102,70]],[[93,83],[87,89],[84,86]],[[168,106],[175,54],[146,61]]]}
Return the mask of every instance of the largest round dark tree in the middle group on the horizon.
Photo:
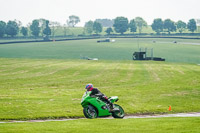
{"label": "largest round dark tree in the middle group on the horizon", "polygon": [[114,25],[113,27],[115,28],[115,31],[117,33],[121,33],[124,34],[124,32],[126,32],[128,30],[128,19],[125,17],[117,17],[114,20]]}

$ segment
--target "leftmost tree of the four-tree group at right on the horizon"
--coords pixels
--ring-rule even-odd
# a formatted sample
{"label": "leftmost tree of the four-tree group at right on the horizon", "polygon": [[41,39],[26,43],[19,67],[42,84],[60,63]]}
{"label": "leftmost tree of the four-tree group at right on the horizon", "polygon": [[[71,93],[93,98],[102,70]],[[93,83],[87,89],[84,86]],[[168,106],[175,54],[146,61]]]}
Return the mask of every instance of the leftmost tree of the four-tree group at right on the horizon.
{"label": "leftmost tree of the four-tree group at right on the horizon", "polygon": [[163,31],[163,21],[161,18],[154,19],[153,24],[151,25],[152,30],[154,30],[157,34]]}

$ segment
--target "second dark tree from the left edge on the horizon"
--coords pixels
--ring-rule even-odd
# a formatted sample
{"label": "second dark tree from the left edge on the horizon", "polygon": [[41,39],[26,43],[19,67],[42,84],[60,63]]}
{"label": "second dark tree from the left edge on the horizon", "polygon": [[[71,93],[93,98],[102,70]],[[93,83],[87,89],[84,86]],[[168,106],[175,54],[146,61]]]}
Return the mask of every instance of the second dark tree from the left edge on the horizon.
{"label": "second dark tree from the left edge on the horizon", "polygon": [[18,34],[19,32],[19,27],[17,22],[15,21],[8,21],[6,25],[6,34],[10,35],[11,37],[14,37]]}

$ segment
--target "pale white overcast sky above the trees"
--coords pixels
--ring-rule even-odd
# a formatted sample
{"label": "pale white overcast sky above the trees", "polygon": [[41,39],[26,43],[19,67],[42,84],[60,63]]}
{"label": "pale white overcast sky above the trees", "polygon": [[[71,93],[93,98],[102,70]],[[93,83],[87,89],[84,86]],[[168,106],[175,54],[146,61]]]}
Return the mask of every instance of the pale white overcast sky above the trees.
{"label": "pale white overcast sky above the trees", "polygon": [[78,26],[98,18],[129,20],[142,17],[150,25],[155,18],[173,21],[200,19],[200,0],[0,0],[0,20],[20,20],[23,25],[44,18],[66,23],[70,15],[80,17]]}

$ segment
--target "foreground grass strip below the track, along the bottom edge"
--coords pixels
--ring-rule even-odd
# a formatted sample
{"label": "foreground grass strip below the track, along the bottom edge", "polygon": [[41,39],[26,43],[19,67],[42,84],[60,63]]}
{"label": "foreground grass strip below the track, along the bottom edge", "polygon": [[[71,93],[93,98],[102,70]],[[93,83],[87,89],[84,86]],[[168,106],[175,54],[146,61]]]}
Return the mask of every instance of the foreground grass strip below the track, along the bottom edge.
{"label": "foreground grass strip below the track, along the bottom edge", "polygon": [[200,118],[95,119],[0,124],[1,133],[199,133]]}

